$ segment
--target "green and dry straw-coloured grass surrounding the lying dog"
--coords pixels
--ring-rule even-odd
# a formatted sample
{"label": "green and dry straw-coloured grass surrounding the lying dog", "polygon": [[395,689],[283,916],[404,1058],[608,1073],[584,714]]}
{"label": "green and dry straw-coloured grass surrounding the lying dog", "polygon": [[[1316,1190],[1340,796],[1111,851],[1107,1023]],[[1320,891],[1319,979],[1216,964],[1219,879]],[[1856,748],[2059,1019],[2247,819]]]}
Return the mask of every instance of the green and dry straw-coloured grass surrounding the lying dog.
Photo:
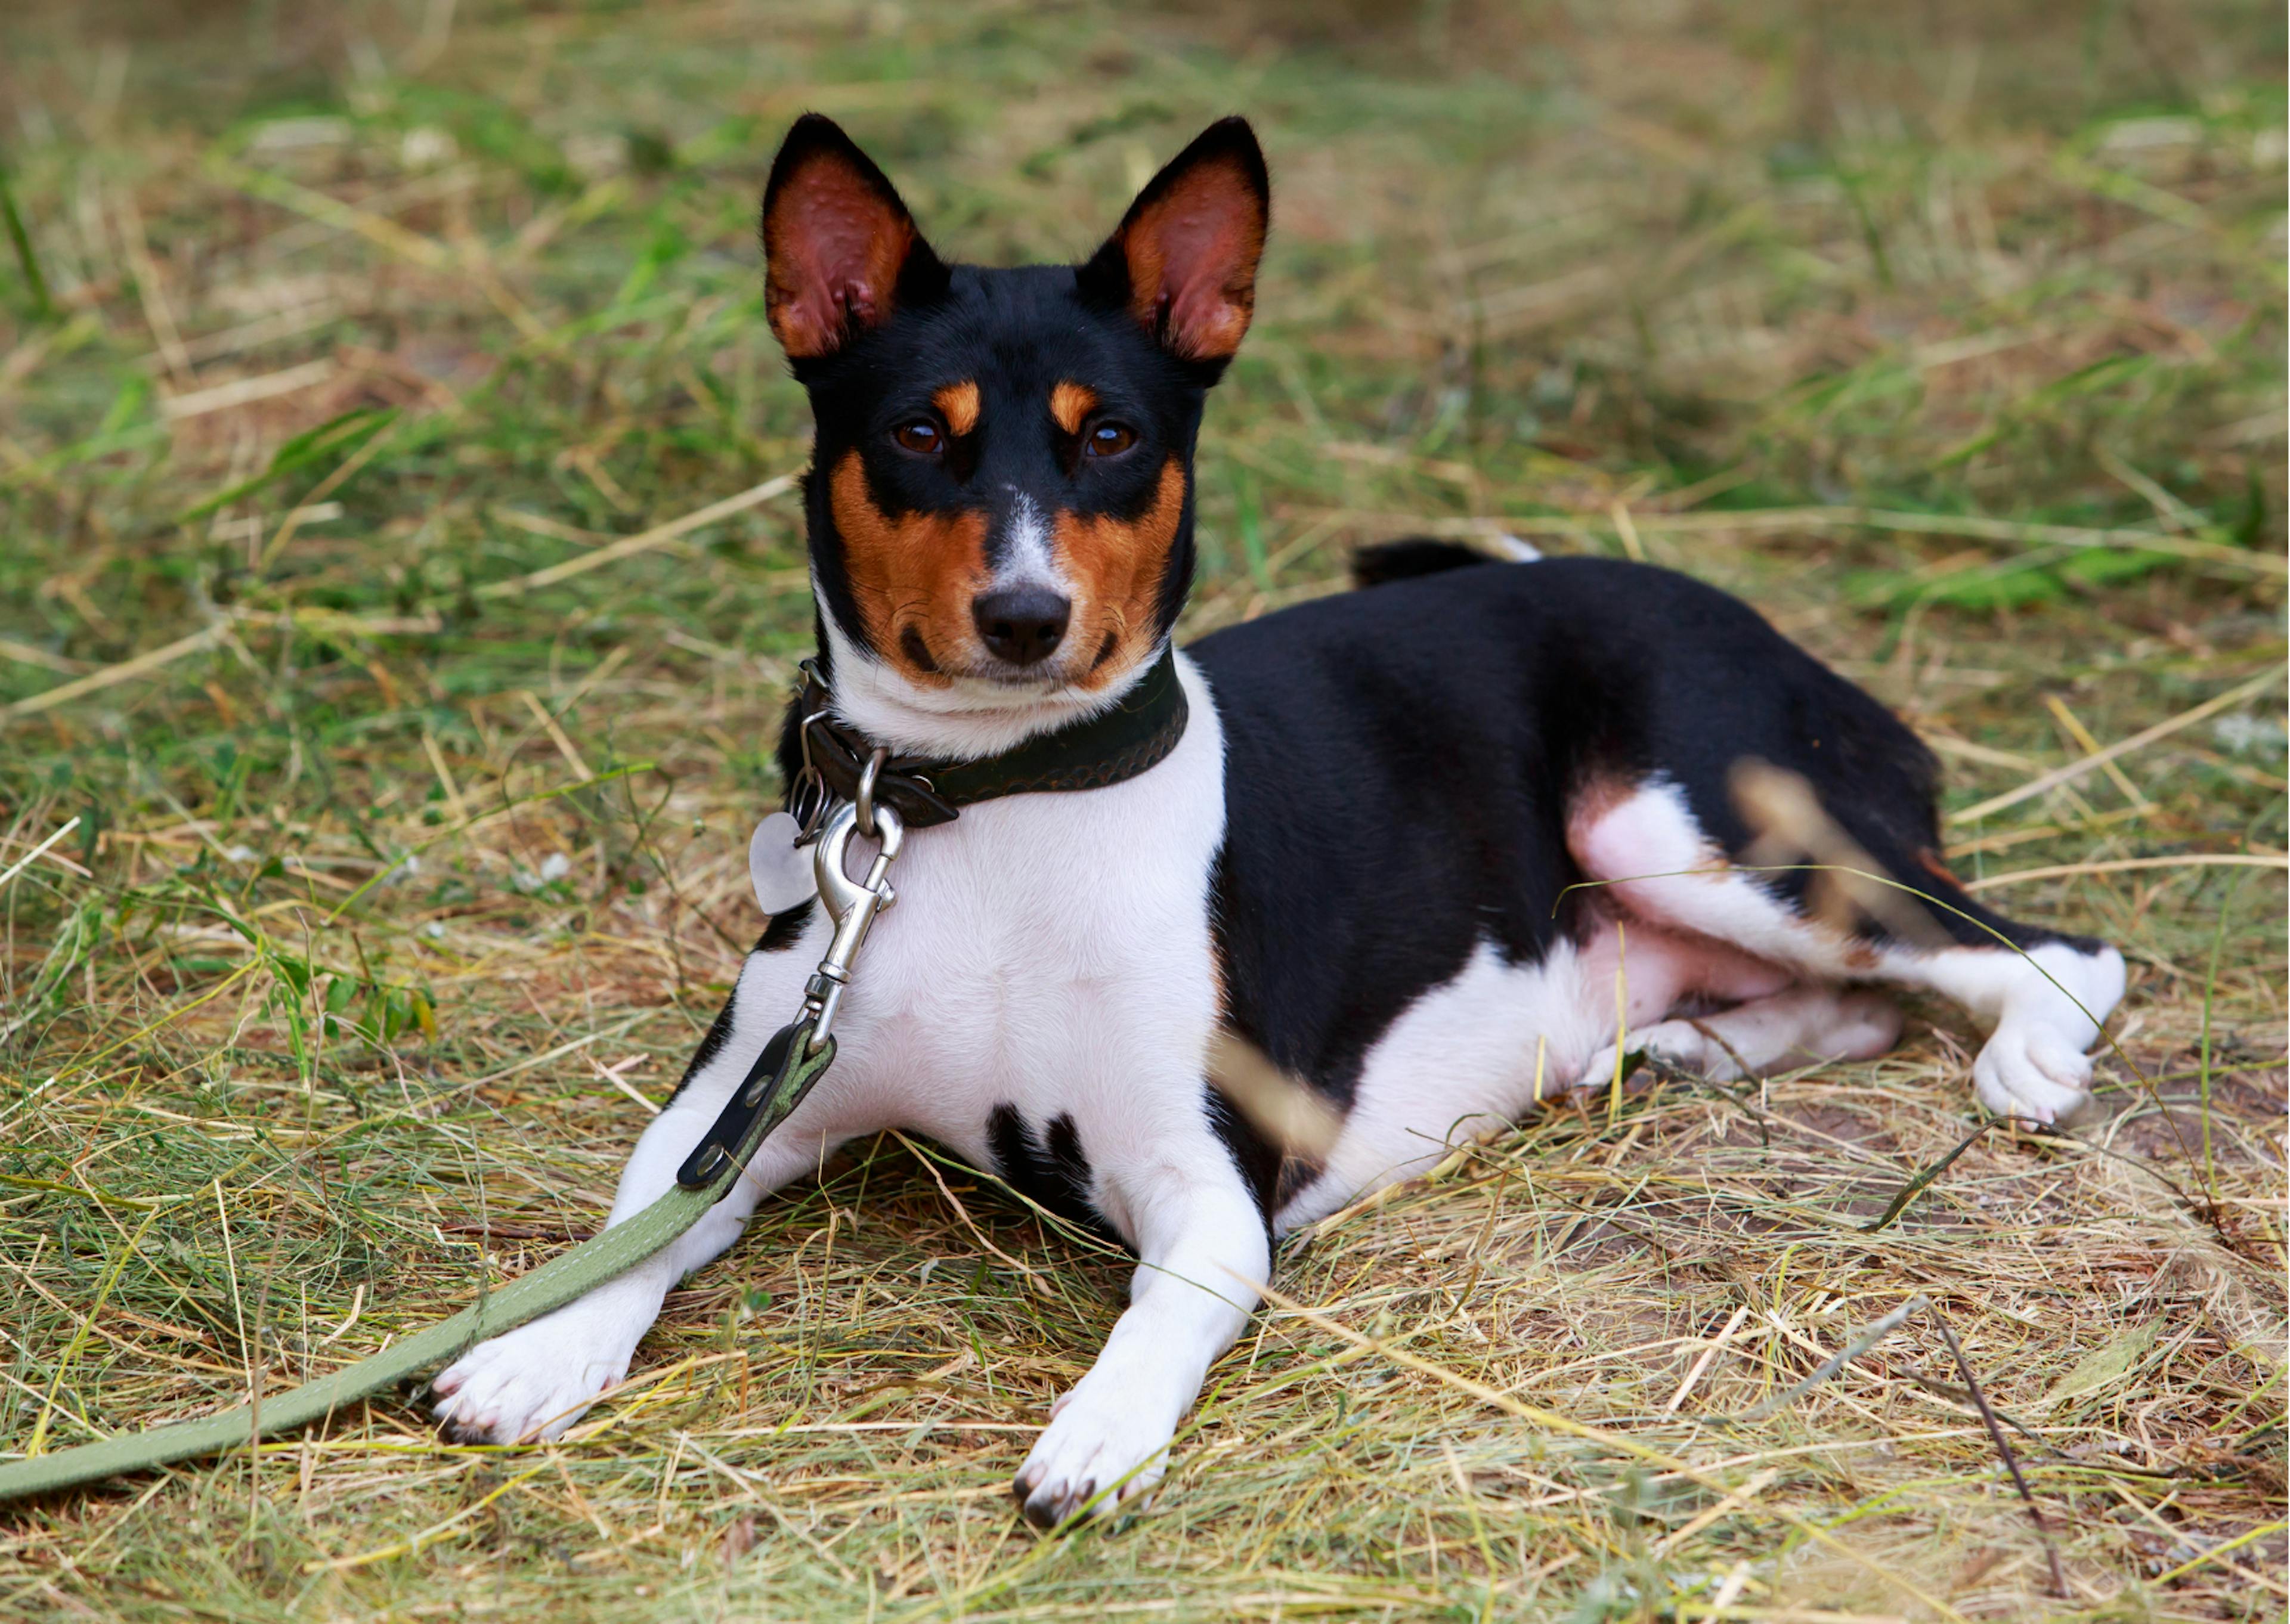
{"label": "green and dry straw-coloured grass surrounding the lying dog", "polygon": [[[1633,552],[1958,811],[2283,667],[2279,9],[34,7],[0,60],[0,875],[69,827],[0,882],[9,1450],[598,1223],[753,930],[811,605],[783,497],[563,566],[802,467],[753,252],[802,108],[987,261],[1257,119],[1191,630],[1406,531]],[[2283,852],[2281,719],[1951,825],[2132,957],[2105,1127],[1866,1230],[1974,1127],[1937,1006],[1550,1113],[1292,1239],[1124,1528],[1003,1493],[1120,1262],[884,1138],[566,1443],[378,1402],[5,1507],[0,1615],[2279,1617],[2283,880],[2178,859]],[[1919,1294],[2068,1597],[1933,1315],[1752,1416]]]}

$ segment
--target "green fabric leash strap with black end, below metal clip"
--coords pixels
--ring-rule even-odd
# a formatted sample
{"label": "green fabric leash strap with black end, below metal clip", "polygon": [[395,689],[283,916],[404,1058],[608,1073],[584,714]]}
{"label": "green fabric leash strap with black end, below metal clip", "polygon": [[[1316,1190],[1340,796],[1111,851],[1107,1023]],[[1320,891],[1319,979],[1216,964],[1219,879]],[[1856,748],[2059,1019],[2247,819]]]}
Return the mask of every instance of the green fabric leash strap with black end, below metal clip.
{"label": "green fabric leash strap with black end, below metal clip", "polygon": [[[220,1416],[204,1416],[174,1427],[121,1432],[103,1438],[101,1443],[82,1443],[71,1450],[57,1450],[55,1454],[32,1454],[30,1459],[9,1461],[0,1466],[0,1500],[16,1500],[27,1493],[48,1493],[53,1489],[71,1489],[82,1482],[149,1471],[151,1466],[188,1461],[202,1454],[222,1454],[224,1450],[234,1450],[238,1445],[252,1445],[259,1438],[307,1427],[334,1416],[362,1397],[371,1397],[373,1393],[396,1386],[408,1377],[417,1377],[433,1365],[444,1365],[458,1358],[488,1335],[513,1331],[527,1319],[538,1319],[540,1315],[589,1294],[605,1280],[627,1274],[708,1216],[708,1209],[714,1207],[742,1175],[747,1159],[756,1152],[756,1145],[763,1143],[765,1134],[779,1127],[779,1122],[795,1111],[811,1083],[815,1083],[829,1061],[836,1058],[834,1038],[829,1038],[818,1054],[806,1054],[806,1049],[808,1044],[804,1042],[765,1044],[763,1056],[756,1058],[756,1072],[760,1072],[765,1063],[776,1061],[779,1079],[769,1088],[763,1109],[747,1122],[747,1132],[742,1132],[735,1141],[733,1154],[705,1184],[696,1189],[678,1184],[627,1223],[616,1223],[602,1235],[582,1241],[566,1255],[552,1258],[529,1274],[520,1274],[515,1280],[488,1292],[451,1319],[442,1319],[426,1331],[417,1331],[414,1335],[392,1342],[380,1354],[362,1358],[330,1377],[307,1381],[300,1388],[279,1393],[277,1397],[263,1397],[259,1406],[240,1404],[238,1409],[222,1411]],[[756,1072],[749,1074],[749,1083],[753,1083]]]}

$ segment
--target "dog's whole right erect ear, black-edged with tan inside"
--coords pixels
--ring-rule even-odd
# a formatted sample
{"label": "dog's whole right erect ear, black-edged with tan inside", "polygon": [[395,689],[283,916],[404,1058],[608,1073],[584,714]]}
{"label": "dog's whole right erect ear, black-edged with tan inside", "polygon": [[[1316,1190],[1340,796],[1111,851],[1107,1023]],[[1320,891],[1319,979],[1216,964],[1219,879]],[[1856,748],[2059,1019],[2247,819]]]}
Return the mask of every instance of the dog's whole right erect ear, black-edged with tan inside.
{"label": "dog's whole right erect ear, black-edged with tan inside", "polygon": [[1189,362],[1227,362],[1257,305],[1271,179],[1248,119],[1218,119],[1129,204],[1081,268],[1085,295],[1124,305]]}

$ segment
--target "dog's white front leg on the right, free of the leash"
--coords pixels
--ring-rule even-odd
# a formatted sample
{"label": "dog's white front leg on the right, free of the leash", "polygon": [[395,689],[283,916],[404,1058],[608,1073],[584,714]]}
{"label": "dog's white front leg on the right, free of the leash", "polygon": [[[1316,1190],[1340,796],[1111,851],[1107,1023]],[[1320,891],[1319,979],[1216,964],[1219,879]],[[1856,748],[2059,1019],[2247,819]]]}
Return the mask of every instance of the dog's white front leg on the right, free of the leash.
{"label": "dog's white front leg on the right, free of the leash", "polygon": [[1106,1491],[1095,1514],[1143,1500],[1168,1468],[1168,1443],[1209,1363],[1232,1347],[1271,1278],[1264,1214],[1225,1148],[1202,1166],[1145,1166],[1115,1180],[1138,1248],[1129,1310],[1090,1372],[1049,1411],[1012,1489],[1049,1528]]}

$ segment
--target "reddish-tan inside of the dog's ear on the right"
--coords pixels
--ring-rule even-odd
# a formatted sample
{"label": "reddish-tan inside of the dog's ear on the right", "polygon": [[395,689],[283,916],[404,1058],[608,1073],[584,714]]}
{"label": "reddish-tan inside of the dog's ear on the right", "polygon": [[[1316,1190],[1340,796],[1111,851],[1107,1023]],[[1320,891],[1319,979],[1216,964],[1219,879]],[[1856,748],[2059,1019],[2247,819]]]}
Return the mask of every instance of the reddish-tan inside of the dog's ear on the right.
{"label": "reddish-tan inside of the dog's ear on the right", "polygon": [[1129,309],[1186,360],[1230,360],[1257,307],[1264,211],[1232,163],[1205,163],[1122,227]]}

